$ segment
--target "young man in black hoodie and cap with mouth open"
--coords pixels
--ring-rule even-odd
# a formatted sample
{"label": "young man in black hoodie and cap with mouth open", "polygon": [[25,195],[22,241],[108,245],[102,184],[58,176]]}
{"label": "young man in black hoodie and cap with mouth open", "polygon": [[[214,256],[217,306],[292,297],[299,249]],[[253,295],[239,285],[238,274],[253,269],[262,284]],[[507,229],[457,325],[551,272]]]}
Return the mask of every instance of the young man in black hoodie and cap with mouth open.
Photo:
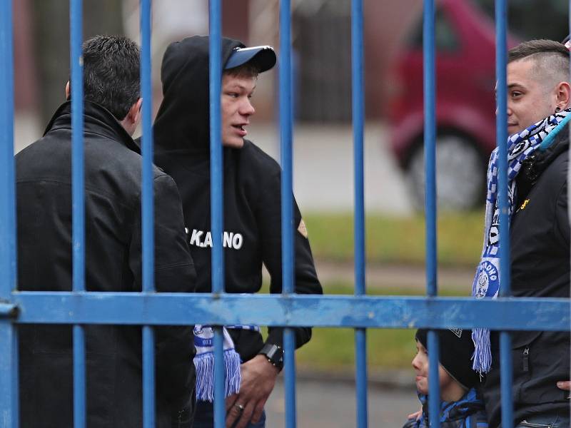
{"label": "young man in black hoodie and cap with mouth open", "polygon": [[[208,37],[194,36],[168,46],[161,66],[163,102],[154,124],[155,163],[171,175],[183,200],[197,290],[211,291],[211,248],[221,243],[227,292],[258,292],[262,264],[271,276],[270,291],[281,292],[281,168],[245,139],[254,113],[251,96],[258,73],[276,63],[268,46],[243,49],[223,39],[221,122],[224,174],[224,236],[210,233],[210,159],[208,114]],[[295,205],[295,292],[321,293],[305,225]],[[283,364],[283,329],[270,328],[266,342],[258,330],[228,328],[241,365],[238,394],[228,397],[227,424],[263,427],[263,406]],[[295,345],[308,342],[310,328],[295,329]],[[212,404],[198,402],[196,425],[212,426]]]}

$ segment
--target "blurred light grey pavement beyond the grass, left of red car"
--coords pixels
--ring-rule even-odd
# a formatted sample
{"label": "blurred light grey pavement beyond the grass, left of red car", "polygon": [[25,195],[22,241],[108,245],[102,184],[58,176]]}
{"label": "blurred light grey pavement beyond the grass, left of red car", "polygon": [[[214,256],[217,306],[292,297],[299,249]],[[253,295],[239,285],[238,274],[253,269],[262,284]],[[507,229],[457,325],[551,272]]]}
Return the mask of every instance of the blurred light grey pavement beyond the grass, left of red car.
{"label": "blurred light grey pavement beyond the grass, left of red car", "polygon": [[[250,127],[248,138],[279,159],[278,128]],[[298,125],[293,136],[293,185],[302,212],[350,212],[354,204],[353,131],[350,125]],[[407,215],[412,212],[403,173],[388,149],[381,125],[365,128],[365,209]]]}

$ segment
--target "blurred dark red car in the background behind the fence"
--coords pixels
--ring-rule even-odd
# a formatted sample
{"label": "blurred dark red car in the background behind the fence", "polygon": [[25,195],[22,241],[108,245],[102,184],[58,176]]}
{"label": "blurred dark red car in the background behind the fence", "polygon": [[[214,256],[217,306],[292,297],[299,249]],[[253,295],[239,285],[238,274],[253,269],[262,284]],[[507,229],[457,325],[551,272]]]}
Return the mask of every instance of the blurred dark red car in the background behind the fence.
{"label": "blurred dark red car in the background behind the fence", "polygon": [[[468,209],[483,202],[487,159],[496,145],[495,28],[489,15],[493,1],[477,3],[441,0],[435,13],[437,185],[438,204],[445,209]],[[510,22],[517,18],[517,28],[510,30],[525,39],[553,37],[541,34],[533,24],[538,16],[534,7],[545,15],[546,6],[550,9],[552,4],[550,27],[562,27],[555,38],[562,39],[567,34],[567,14],[555,13],[559,3],[510,2]],[[508,36],[508,46],[516,43],[515,36]],[[422,16],[393,64],[398,89],[389,103],[390,143],[420,208],[424,200]]]}

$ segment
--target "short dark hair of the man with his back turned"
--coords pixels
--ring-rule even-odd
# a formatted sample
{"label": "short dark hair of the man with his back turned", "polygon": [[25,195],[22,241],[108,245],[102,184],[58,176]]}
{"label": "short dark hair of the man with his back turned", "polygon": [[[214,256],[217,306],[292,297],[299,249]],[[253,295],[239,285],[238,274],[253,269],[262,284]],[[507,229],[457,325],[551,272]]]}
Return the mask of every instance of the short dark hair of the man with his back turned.
{"label": "short dark hair of the man with his back turned", "polygon": [[84,99],[122,121],[141,96],[138,45],[124,36],[95,36],[84,41]]}

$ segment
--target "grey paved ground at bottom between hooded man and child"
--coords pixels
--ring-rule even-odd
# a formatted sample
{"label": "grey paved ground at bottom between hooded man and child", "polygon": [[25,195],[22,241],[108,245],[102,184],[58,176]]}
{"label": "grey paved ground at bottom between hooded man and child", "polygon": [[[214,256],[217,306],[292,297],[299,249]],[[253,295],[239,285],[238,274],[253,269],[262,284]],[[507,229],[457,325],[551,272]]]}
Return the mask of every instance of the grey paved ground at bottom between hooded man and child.
{"label": "grey paved ground at bottom between hooded man and child", "polygon": [[[411,386],[412,386],[411,378]],[[355,388],[345,382],[297,382],[298,428],[353,428]],[[369,388],[369,427],[402,427],[406,415],[419,408],[413,387],[410,389]],[[268,427],[285,426],[283,384],[279,382],[266,403]]]}

